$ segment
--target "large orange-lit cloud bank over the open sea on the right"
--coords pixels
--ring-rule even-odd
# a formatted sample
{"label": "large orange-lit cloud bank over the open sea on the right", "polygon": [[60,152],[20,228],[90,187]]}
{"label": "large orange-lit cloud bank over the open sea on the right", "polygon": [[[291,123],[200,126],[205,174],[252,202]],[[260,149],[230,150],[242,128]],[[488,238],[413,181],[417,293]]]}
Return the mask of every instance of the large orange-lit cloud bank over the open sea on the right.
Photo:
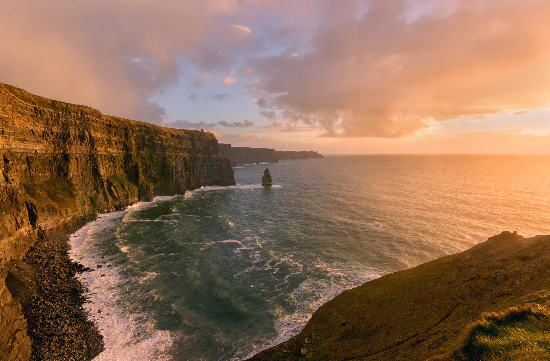
{"label": "large orange-lit cloud bank over the open sea on the right", "polygon": [[550,105],[548,1],[457,0],[412,13],[404,0],[320,3],[323,26],[305,51],[246,63],[266,99],[258,105],[288,121],[331,137],[404,137],[434,121]]}

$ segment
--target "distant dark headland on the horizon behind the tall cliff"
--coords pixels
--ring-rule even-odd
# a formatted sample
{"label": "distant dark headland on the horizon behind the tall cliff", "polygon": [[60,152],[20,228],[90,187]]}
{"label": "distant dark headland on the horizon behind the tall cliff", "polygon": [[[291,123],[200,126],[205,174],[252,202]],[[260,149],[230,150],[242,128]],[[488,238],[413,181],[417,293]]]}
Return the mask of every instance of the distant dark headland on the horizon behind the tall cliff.
{"label": "distant dark headland on the horizon behind the tall cliff", "polygon": [[231,166],[239,164],[278,163],[283,159],[324,158],[317,152],[279,152],[272,148],[232,147],[230,144],[219,145],[222,155],[231,160]]}

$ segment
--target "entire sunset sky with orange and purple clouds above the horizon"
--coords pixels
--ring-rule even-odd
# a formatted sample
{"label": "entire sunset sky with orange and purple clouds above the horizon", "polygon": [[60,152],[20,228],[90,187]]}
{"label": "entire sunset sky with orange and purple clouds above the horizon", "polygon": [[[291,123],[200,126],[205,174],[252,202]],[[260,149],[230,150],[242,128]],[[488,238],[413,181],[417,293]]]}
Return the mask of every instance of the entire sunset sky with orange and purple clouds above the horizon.
{"label": "entire sunset sky with orange and purple clouds above the horizon", "polygon": [[4,0],[0,82],[234,146],[550,153],[550,1]]}

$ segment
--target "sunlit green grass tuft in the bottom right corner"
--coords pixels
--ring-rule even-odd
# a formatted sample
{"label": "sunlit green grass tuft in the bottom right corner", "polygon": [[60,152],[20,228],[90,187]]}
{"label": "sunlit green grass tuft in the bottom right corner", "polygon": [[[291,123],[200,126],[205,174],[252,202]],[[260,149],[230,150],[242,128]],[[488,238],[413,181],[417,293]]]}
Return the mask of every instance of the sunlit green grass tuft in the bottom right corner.
{"label": "sunlit green grass tuft in the bottom right corner", "polygon": [[550,311],[546,307],[511,308],[486,313],[471,327],[453,359],[475,361],[550,360]]}

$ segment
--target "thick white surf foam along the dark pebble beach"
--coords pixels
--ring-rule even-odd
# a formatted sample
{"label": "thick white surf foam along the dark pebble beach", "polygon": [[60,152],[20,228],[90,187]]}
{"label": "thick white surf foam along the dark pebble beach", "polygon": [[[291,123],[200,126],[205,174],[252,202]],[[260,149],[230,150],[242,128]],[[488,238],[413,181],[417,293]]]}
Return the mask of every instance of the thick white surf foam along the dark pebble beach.
{"label": "thick white surf foam along the dark pebble beach", "polygon": [[[128,247],[120,247],[121,253],[115,256],[101,258],[101,248],[94,247],[104,241],[104,237],[112,236],[117,226],[130,212],[155,207],[155,201],[171,199],[173,197],[155,197],[153,202],[139,202],[126,210],[109,214],[100,214],[96,221],[84,226],[70,237],[72,248],[69,256],[78,260],[85,267],[96,269],[76,276],[88,289],[85,296],[91,303],[85,303],[84,308],[89,313],[88,318],[97,325],[105,350],[94,361],[130,361],[130,360],[171,360],[167,351],[173,345],[174,335],[170,331],[157,330],[151,315],[131,312],[128,308],[118,306],[122,303],[124,287],[120,287],[123,277],[119,273],[124,264],[116,265],[117,259],[127,257],[131,252]],[[76,236],[76,237],[74,237]],[[113,264],[107,268],[108,264]],[[119,262],[120,263],[120,262]],[[101,268],[97,266],[101,265]],[[102,276],[105,275],[105,276]],[[145,273],[131,280],[139,284],[149,282],[157,274]],[[128,283],[128,276],[124,279]],[[141,297],[156,299],[153,293]]]}

